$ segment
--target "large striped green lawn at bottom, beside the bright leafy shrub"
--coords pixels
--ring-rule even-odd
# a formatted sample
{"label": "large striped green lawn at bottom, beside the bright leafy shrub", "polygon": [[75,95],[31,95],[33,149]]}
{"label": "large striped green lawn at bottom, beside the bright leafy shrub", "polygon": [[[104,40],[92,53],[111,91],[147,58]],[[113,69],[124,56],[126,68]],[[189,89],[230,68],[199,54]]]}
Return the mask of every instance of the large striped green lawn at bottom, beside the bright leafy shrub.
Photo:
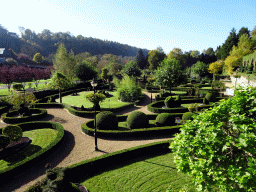
{"label": "large striped green lawn at bottom, beside the bright leafy shrub", "polygon": [[138,157],[135,161],[93,176],[80,184],[90,192],[165,192],[170,185],[176,192],[186,184],[189,192],[197,191],[191,178],[177,171],[172,153],[143,160]]}

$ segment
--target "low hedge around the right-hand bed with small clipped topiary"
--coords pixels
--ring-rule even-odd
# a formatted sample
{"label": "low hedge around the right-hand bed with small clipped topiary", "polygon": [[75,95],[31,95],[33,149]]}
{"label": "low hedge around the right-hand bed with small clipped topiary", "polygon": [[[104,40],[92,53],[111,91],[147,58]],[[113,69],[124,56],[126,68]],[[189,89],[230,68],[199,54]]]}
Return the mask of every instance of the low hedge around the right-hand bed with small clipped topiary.
{"label": "low hedge around the right-hand bed with small clipped topiary", "polygon": [[[182,100],[183,103],[184,100]],[[203,99],[187,99],[186,103],[202,103]],[[185,103],[185,102],[184,102]],[[188,112],[188,108],[185,107],[179,107],[179,108],[159,108],[160,106],[164,106],[164,100],[161,101],[155,101],[149,105],[147,105],[147,110],[153,112],[153,113],[185,113]],[[208,109],[212,107],[211,105],[203,105],[198,107],[198,111],[201,109]]]}

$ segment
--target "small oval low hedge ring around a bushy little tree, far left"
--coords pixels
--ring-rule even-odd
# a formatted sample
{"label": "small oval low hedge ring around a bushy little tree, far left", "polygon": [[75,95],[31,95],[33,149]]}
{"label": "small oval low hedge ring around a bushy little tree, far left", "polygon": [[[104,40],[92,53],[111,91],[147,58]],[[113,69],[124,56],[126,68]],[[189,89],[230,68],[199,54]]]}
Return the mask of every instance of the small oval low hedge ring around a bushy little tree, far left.
{"label": "small oval low hedge ring around a bushy little tree, far left", "polygon": [[28,117],[10,117],[10,115],[16,115],[19,114],[18,110],[9,112],[9,113],[4,113],[1,116],[1,119],[4,123],[8,124],[17,124],[17,123],[24,123],[28,121],[35,121],[39,120],[47,115],[47,110],[46,109],[39,109],[39,108],[31,108],[30,111],[33,113],[39,113],[37,115],[33,116],[28,116]]}

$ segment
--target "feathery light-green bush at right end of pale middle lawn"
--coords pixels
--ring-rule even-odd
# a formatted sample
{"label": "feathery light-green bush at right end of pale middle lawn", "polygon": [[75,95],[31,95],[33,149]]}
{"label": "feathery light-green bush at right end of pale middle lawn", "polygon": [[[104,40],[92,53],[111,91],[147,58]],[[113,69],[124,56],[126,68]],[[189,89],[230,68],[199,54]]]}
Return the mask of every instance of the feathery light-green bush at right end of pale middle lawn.
{"label": "feathery light-green bush at right end of pale middle lawn", "polygon": [[114,79],[115,86],[117,87],[118,100],[125,102],[134,102],[142,95],[141,87],[138,86],[134,77],[124,76],[122,81]]}

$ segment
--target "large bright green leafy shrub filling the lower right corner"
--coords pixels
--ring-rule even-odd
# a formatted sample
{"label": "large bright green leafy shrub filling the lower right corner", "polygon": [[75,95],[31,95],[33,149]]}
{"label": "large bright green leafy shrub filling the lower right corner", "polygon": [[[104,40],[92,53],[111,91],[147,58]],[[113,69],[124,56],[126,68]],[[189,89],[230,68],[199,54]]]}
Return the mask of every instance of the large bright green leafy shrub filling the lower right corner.
{"label": "large bright green leafy shrub filling the lower right corner", "polygon": [[[239,91],[241,90],[241,92]],[[183,125],[170,145],[178,170],[198,190],[256,191],[256,94],[239,86],[235,96]]]}

